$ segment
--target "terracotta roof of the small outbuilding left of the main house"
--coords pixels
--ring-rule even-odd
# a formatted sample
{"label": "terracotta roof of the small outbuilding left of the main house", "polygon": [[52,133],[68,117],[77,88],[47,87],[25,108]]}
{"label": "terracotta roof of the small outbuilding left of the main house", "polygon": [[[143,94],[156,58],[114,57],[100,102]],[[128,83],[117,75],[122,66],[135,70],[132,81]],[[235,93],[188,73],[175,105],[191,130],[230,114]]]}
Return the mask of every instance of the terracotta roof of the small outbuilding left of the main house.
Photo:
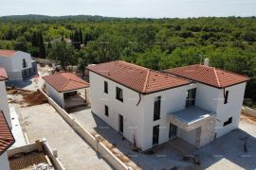
{"label": "terracotta roof of the small outbuilding left of the main house", "polygon": [[43,76],[43,78],[58,92],[73,91],[90,86],[88,82],[71,73],[60,73],[52,76]]}

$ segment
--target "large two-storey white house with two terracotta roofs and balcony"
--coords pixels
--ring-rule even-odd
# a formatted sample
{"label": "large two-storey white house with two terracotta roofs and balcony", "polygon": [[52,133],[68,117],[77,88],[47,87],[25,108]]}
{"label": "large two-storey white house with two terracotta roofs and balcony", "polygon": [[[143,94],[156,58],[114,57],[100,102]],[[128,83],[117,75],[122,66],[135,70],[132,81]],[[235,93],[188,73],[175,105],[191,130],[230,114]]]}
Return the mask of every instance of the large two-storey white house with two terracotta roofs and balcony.
{"label": "large two-storey white house with two terracotta roofs and balcony", "polygon": [[238,127],[246,76],[204,65],[172,75],[120,60],[87,69],[92,112],[141,150],[175,137],[200,147]]}

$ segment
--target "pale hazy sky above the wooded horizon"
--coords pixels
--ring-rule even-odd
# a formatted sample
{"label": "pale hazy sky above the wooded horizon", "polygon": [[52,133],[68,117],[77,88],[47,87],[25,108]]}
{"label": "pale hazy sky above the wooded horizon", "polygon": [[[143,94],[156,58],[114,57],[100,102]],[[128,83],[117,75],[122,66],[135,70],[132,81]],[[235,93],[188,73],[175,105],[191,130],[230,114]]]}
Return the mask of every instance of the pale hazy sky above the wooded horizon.
{"label": "pale hazy sky above the wooded horizon", "polygon": [[256,15],[256,0],[0,0],[0,15],[198,17]]}

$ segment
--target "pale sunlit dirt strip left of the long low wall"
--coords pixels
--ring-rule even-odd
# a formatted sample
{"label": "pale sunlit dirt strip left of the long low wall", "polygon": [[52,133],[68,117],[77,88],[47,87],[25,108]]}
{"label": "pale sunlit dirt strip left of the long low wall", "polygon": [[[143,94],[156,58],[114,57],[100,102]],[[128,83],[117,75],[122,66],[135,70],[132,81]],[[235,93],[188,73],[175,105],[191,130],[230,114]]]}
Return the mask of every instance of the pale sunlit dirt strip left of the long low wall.
{"label": "pale sunlit dirt strip left of the long low wall", "polygon": [[48,104],[18,107],[20,122],[30,142],[46,138],[68,170],[112,169]]}

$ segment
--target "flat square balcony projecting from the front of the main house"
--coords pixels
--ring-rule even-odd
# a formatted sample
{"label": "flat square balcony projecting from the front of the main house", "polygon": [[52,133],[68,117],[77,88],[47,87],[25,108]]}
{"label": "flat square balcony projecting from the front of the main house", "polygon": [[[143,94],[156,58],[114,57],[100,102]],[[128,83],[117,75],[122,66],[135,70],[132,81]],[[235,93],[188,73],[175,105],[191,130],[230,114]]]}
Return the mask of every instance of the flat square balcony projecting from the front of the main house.
{"label": "flat square balcony projecting from the front of the main house", "polygon": [[178,110],[167,114],[166,119],[177,127],[190,131],[202,127],[206,121],[213,119],[215,112],[190,106],[185,110]]}

